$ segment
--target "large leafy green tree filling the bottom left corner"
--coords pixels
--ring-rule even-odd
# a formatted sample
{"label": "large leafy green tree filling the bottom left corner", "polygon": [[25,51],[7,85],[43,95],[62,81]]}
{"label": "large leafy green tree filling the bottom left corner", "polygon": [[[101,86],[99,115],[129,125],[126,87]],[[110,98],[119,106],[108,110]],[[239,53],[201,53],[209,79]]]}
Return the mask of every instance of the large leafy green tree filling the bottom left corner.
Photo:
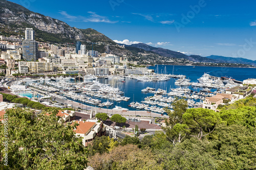
{"label": "large leafy green tree filling the bottom left corner", "polygon": [[[10,109],[8,115],[8,166],[10,169],[83,169],[88,149],[74,127],[59,122],[57,112],[36,115],[28,109]],[[0,123],[0,142],[6,139]],[[1,144],[1,153],[4,153]],[[5,156],[5,153],[2,155]],[[3,161],[0,162],[3,166]]]}

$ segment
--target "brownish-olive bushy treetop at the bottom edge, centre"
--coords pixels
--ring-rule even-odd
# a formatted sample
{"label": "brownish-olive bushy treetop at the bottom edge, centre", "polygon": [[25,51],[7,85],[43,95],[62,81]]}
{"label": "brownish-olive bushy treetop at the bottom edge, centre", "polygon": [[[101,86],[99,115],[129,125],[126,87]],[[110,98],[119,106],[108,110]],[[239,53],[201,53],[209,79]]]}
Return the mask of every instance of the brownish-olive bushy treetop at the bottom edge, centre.
{"label": "brownish-olive bushy treetop at the bottom edge, centre", "polygon": [[89,161],[89,165],[95,170],[161,169],[151,150],[141,150],[133,144],[118,146],[110,153],[96,154]]}

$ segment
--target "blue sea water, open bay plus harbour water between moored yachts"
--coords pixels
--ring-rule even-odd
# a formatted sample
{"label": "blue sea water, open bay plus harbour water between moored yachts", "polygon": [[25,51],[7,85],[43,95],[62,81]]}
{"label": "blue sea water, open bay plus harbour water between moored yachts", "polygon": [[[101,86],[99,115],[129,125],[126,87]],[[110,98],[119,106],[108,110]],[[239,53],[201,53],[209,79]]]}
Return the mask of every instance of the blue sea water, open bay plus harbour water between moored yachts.
{"label": "blue sea water, open bay plus harbour water between moored yachts", "polygon": [[[157,69],[158,67],[158,69]],[[243,81],[248,78],[256,79],[256,68],[235,68],[235,67],[210,67],[210,66],[181,66],[181,65],[158,65],[158,66],[150,66],[150,69],[158,70],[159,74],[174,74],[174,75],[185,75],[190,82],[197,82],[197,79],[203,76],[204,73],[209,74],[210,76],[215,77],[228,77],[232,79],[236,79],[238,81]],[[166,69],[165,69],[166,68]],[[165,71],[166,70],[166,71]],[[145,93],[141,92],[142,89],[146,87],[153,87],[167,90],[170,92],[171,88],[178,88],[180,86],[175,85],[175,81],[177,79],[170,78],[169,81],[159,81],[159,82],[142,82],[137,81],[131,78],[125,78],[125,82],[120,82],[115,79],[103,79],[99,78],[98,81],[104,84],[110,84],[112,87],[118,87],[120,90],[124,92],[124,96],[131,98],[129,101],[109,101],[108,99],[100,99],[103,102],[113,102],[114,105],[105,107],[112,109],[115,106],[120,106],[123,108],[127,108],[129,110],[136,110],[129,107],[131,102],[141,102],[144,101],[144,98],[147,96],[154,96],[154,93]],[[74,81],[71,81],[74,82]],[[77,82],[77,81],[76,81]],[[200,91],[203,88],[200,87],[191,87],[191,86],[184,86],[184,88],[190,88],[193,91]],[[217,89],[211,89],[212,92],[216,91]],[[81,103],[80,101],[76,101]],[[196,101],[201,102],[201,101]],[[86,103],[84,103],[86,104]],[[89,104],[87,104],[89,105]]]}

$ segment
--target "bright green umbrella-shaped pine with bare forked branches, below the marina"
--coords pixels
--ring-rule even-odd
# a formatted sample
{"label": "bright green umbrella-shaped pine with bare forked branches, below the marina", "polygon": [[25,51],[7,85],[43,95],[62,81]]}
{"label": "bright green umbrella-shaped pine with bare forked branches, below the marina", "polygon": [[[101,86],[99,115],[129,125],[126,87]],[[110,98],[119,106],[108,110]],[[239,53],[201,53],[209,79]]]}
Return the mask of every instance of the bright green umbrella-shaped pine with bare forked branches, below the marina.
{"label": "bright green umbrella-shaped pine with bare forked branches, below the marina", "polygon": [[188,109],[182,118],[189,129],[189,136],[197,137],[199,140],[212,133],[217,123],[221,122],[218,112],[203,108]]}

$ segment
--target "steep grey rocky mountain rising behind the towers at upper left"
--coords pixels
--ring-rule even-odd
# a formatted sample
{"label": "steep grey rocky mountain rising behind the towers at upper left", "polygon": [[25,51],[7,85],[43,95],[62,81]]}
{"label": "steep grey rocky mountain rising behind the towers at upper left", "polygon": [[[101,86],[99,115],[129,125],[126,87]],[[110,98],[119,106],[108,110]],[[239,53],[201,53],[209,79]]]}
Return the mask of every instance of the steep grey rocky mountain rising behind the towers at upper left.
{"label": "steep grey rocky mountain rising behind the towers at upper left", "polygon": [[32,12],[15,3],[0,0],[1,33],[6,34],[3,29],[8,29],[9,32],[13,31],[16,32],[15,35],[20,34],[22,36],[26,27],[33,28],[36,37],[50,42],[63,43],[80,40],[116,44],[96,30],[70,27],[66,22]]}

